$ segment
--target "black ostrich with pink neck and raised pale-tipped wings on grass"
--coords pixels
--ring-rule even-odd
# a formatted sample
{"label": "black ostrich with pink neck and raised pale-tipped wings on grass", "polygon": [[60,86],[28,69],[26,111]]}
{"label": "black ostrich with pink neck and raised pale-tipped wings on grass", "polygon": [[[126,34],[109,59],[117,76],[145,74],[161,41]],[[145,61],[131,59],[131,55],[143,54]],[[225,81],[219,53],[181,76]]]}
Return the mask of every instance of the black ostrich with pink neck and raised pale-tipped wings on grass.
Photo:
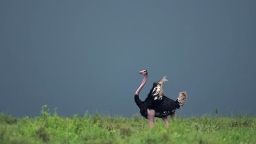
{"label": "black ostrich with pink neck and raised pale-tipped wings on grass", "polygon": [[154,117],[162,118],[168,127],[168,116],[170,115],[173,119],[175,117],[175,110],[179,109],[180,106],[184,105],[187,102],[187,93],[181,92],[179,93],[179,97],[176,101],[166,97],[162,92],[162,84],[167,81],[164,76],[163,79],[159,82],[154,82],[153,87],[150,90],[148,97],[146,100],[141,101],[139,99],[139,92],[146,84],[148,79],[147,70],[139,71],[142,75],[144,75],[144,79],[141,83],[141,86],[135,92],[135,103],[138,105],[141,115],[145,118],[148,118],[150,123],[150,128],[154,127]]}

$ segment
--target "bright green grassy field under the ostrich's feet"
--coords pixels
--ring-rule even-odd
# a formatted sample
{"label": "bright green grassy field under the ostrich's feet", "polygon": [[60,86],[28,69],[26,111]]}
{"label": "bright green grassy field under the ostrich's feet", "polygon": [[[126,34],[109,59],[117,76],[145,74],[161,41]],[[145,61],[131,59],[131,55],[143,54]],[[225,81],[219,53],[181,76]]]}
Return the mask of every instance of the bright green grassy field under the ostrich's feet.
{"label": "bright green grassy field under the ostrich's feet", "polygon": [[166,128],[160,118],[149,129],[147,119],[98,114],[15,118],[0,115],[0,143],[256,143],[256,118],[249,116],[176,117]]}

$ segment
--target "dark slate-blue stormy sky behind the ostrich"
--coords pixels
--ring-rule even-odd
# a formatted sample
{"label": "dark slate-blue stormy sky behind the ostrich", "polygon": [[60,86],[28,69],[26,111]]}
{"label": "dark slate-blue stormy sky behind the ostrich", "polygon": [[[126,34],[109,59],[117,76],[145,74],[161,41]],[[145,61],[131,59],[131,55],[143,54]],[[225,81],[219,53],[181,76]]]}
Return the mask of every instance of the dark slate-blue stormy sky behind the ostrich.
{"label": "dark slate-blue stormy sky behind the ostrich", "polygon": [[131,117],[167,75],[178,115],[256,115],[256,1],[0,2],[0,111]]}

